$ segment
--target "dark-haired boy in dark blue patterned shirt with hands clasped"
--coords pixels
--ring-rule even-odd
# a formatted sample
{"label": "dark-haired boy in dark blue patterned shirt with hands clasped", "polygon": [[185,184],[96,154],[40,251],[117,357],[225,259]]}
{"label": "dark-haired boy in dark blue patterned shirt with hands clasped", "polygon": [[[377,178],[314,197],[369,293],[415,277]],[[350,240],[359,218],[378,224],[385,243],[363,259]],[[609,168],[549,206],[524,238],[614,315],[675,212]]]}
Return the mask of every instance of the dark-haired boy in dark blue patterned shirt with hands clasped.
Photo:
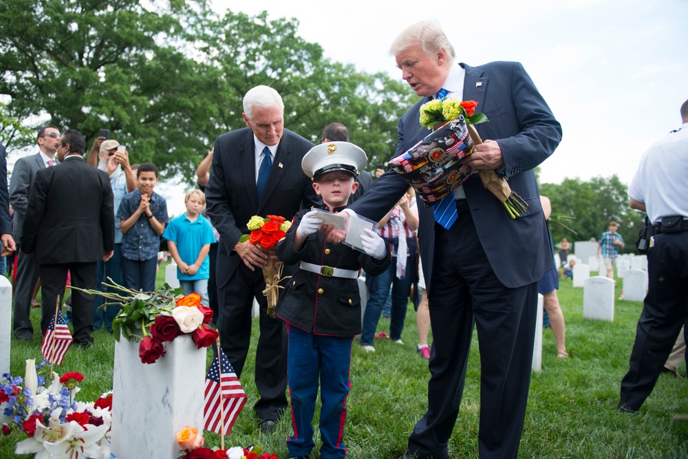
{"label": "dark-haired boy in dark blue patterned shirt with hands clasped", "polygon": [[122,277],[125,287],[152,292],[158,270],[160,235],[169,220],[167,203],[153,191],[158,168],[144,162],[136,171],[138,190],[125,195],[117,211],[122,231]]}

